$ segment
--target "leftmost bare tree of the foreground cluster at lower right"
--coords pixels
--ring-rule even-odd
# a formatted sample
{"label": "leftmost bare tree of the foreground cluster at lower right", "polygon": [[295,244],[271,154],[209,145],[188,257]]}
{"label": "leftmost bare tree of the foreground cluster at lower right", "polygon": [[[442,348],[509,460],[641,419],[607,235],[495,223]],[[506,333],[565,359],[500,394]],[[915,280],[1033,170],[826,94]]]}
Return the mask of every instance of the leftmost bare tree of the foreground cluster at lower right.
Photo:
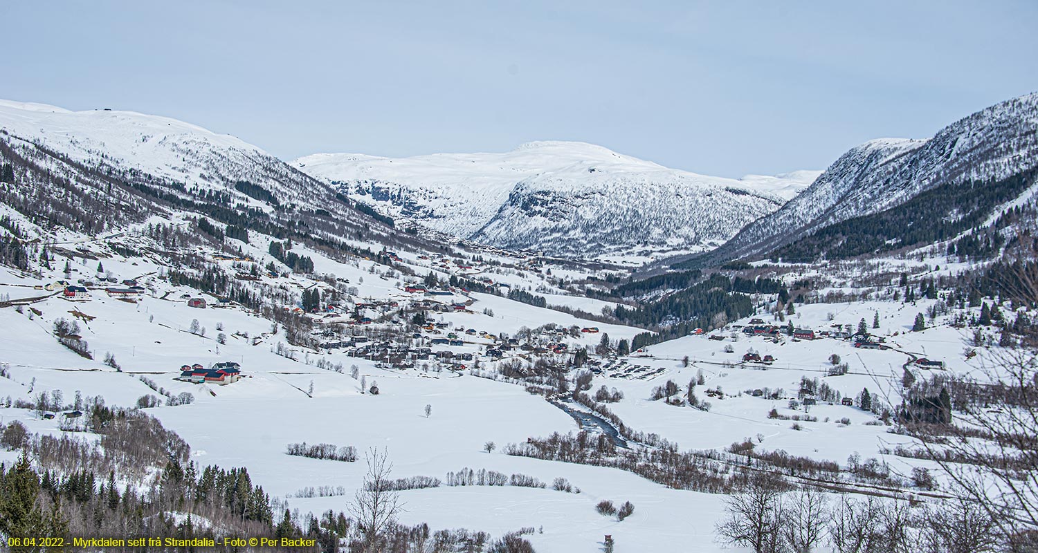
{"label": "leftmost bare tree of the foreground cluster at lower right", "polygon": [[726,500],[728,514],[717,524],[717,534],[729,544],[752,547],[756,553],[781,551],[784,489],[778,476],[753,474],[743,493]]}

